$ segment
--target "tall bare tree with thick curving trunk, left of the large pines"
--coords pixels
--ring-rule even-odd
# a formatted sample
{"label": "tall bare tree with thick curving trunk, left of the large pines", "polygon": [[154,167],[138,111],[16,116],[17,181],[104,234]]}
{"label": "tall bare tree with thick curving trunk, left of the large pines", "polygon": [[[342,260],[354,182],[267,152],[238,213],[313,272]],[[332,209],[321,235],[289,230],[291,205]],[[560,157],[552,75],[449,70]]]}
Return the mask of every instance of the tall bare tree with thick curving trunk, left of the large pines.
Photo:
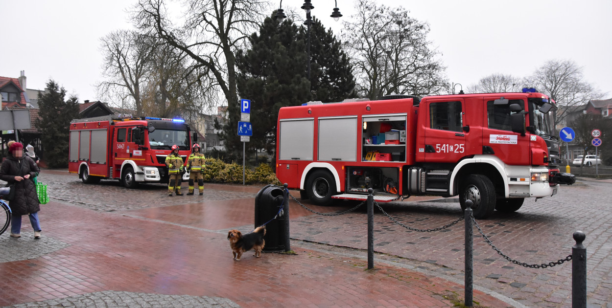
{"label": "tall bare tree with thick curving trunk, left of the large pines", "polygon": [[185,53],[193,67],[201,69],[222,90],[228,102],[226,145],[239,144],[236,136],[239,101],[236,92],[236,51],[256,29],[263,0],[186,0],[185,24],[174,26],[163,0],[140,0],[133,20],[143,32],[159,37]]}

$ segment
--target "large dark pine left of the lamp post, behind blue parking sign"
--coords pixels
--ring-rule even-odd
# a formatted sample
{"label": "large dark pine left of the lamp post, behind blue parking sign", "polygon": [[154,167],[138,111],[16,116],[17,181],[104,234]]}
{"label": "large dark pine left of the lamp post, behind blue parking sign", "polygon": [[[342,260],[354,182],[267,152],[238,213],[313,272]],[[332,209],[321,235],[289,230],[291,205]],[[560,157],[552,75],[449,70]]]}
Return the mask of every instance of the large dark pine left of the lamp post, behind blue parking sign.
{"label": "large dark pine left of the lamp post, behind blue parking sign", "polygon": [[287,19],[279,25],[267,17],[259,34],[249,38],[252,48],[236,55],[238,93],[252,105],[253,136],[247,144],[251,149],[274,153],[278,110],[310,100],[306,49],[297,35],[293,21]]}

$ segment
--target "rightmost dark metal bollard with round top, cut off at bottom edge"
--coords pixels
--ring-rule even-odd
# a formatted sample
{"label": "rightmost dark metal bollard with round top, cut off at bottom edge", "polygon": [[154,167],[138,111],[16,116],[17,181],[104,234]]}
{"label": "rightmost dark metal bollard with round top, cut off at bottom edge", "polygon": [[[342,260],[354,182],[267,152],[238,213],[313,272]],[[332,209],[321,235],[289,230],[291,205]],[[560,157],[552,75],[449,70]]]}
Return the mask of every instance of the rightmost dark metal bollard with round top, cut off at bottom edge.
{"label": "rightmost dark metal bollard with round top, cut off at bottom edge", "polygon": [[572,247],[572,308],[586,308],[586,247],[582,231],[573,233],[576,244]]}

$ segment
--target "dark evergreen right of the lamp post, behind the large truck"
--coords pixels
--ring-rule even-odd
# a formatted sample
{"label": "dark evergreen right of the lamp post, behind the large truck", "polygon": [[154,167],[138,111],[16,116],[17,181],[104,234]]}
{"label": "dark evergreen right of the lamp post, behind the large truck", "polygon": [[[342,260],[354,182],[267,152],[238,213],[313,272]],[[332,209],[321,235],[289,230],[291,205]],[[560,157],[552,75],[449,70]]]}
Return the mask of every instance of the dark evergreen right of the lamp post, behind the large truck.
{"label": "dark evergreen right of the lamp post, behind the large truck", "polygon": [[[298,39],[308,43],[308,28],[301,27]],[[324,103],[355,98],[355,78],[348,56],[332,29],[314,18],[310,26],[310,84],[313,101]]]}

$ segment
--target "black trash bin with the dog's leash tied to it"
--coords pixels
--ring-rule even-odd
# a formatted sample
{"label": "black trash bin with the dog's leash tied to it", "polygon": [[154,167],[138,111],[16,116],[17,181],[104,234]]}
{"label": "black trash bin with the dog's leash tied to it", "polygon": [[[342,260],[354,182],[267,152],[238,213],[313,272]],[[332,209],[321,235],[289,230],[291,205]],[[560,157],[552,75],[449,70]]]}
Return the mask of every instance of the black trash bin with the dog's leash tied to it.
{"label": "black trash bin with the dog's leash tied to it", "polygon": [[[267,185],[262,188],[255,196],[255,227],[266,224],[266,246],[264,251],[275,252],[285,251],[285,243],[289,235],[286,230],[287,215],[277,215],[278,210],[283,206],[283,189],[276,185]],[[271,220],[272,219],[272,220]]]}

